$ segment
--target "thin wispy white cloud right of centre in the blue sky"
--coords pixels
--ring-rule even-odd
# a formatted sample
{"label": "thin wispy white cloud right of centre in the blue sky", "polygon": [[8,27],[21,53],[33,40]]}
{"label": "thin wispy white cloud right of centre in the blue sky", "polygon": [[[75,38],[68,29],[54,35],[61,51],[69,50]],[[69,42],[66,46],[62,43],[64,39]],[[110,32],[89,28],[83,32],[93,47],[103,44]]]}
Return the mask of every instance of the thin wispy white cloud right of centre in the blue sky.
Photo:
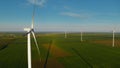
{"label": "thin wispy white cloud right of centre in the blue sky", "polygon": [[85,15],[85,14],[78,14],[78,13],[72,13],[72,12],[62,12],[62,13],[60,13],[60,15],[76,17],[76,18],[86,18],[87,17],[87,15]]}

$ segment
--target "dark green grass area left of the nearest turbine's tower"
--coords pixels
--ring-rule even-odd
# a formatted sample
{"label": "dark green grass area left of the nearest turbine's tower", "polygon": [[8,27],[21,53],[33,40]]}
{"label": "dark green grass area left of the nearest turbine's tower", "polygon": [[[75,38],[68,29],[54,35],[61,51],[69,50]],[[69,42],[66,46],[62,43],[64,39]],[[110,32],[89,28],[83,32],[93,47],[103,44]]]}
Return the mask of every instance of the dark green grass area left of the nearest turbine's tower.
{"label": "dark green grass area left of the nearest turbine's tower", "polygon": [[0,51],[0,68],[27,68],[25,42],[17,39]]}

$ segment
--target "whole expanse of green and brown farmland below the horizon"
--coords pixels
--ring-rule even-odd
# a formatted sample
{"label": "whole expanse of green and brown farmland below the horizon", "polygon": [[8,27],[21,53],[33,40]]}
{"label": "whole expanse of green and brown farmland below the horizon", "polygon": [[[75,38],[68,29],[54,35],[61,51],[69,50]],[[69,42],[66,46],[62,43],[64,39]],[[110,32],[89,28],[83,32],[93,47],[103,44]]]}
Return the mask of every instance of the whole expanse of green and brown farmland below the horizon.
{"label": "whole expanse of green and brown farmland below the horizon", "polygon": [[[120,34],[37,33],[40,56],[32,38],[32,68],[120,68]],[[27,37],[0,33],[0,68],[27,68]]]}

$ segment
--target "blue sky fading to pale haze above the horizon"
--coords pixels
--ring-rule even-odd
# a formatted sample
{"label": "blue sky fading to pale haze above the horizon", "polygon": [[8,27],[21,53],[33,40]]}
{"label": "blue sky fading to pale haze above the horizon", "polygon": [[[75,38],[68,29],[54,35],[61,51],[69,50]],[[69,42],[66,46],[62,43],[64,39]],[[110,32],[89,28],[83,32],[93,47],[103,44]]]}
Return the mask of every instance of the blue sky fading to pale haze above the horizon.
{"label": "blue sky fading to pale haze above the horizon", "polygon": [[120,0],[0,0],[0,31],[120,32]]}

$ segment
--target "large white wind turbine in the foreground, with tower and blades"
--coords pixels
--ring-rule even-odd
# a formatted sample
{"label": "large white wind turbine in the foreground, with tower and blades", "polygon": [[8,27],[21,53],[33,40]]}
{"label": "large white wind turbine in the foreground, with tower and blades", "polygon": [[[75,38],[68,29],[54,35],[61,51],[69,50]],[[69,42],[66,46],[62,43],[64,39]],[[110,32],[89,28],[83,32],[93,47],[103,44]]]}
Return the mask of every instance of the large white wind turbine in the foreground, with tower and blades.
{"label": "large white wind turbine in the foreground, with tower and blades", "polygon": [[[34,0],[34,3],[35,3],[35,0]],[[34,9],[33,9],[31,27],[30,28],[24,28],[24,31],[27,31],[26,35],[27,35],[28,68],[32,68],[32,62],[31,62],[31,37],[30,37],[31,34],[33,35],[34,42],[35,42],[35,45],[37,47],[37,51],[38,51],[38,54],[39,54],[39,57],[40,57],[40,50],[39,50],[38,43],[37,43],[37,40],[36,40],[36,36],[35,36],[35,33],[34,33],[34,15],[35,15],[35,5],[34,5]],[[41,58],[40,58],[40,62],[41,62]]]}

